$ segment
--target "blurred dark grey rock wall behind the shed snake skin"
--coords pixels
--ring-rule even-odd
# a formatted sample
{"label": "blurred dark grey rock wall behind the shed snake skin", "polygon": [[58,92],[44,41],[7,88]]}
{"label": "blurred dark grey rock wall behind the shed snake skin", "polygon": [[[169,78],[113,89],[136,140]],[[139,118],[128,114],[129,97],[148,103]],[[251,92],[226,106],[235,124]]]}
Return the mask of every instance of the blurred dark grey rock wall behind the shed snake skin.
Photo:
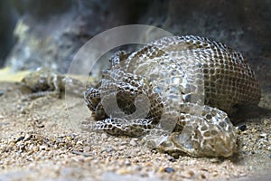
{"label": "blurred dark grey rock wall behind the shed snake skin", "polygon": [[271,88],[269,0],[0,0],[0,67],[66,72],[91,37],[125,24],[194,34],[242,52]]}

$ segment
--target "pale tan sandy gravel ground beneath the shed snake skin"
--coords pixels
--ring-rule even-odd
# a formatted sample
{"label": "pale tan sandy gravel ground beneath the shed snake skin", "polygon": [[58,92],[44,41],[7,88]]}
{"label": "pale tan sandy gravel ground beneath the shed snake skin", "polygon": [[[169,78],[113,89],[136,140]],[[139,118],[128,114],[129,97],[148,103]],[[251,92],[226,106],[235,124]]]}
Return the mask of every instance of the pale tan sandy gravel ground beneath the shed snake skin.
{"label": "pale tan sandy gravel ground beneath the shed snake skin", "polygon": [[[269,93],[269,94],[268,94]],[[271,109],[271,93],[260,105]],[[0,180],[268,180],[271,116],[243,119],[229,158],[175,157],[139,138],[84,132],[82,98],[25,100],[16,82],[0,82]]]}

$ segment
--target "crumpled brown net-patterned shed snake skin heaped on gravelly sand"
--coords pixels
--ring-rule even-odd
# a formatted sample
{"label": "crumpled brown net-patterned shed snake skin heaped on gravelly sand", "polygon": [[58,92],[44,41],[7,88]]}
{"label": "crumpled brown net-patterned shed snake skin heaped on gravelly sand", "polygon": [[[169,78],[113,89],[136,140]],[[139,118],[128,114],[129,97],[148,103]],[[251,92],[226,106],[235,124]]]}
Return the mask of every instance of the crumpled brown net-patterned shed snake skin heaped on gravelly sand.
{"label": "crumpled brown net-patterned shed snake skin heaped on gravelly sand", "polygon": [[137,52],[117,52],[85,92],[89,129],[143,136],[148,146],[193,157],[229,157],[236,133],[227,112],[257,104],[260,89],[246,60],[198,36],[165,37]]}

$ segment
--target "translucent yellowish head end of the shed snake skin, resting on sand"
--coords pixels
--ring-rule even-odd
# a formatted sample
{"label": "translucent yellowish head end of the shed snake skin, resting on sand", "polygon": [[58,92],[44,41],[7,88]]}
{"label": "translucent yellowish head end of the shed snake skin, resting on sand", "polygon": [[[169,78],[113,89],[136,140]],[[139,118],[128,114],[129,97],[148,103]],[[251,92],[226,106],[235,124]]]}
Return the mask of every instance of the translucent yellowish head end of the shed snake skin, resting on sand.
{"label": "translucent yellowish head end of the shed snake skin, resting on sand", "polygon": [[[145,136],[146,146],[193,157],[230,157],[237,150],[237,136],[227,113],[189,103],[171,132],[161,126]],[[168,120],[168,119],[167,119]]]}

